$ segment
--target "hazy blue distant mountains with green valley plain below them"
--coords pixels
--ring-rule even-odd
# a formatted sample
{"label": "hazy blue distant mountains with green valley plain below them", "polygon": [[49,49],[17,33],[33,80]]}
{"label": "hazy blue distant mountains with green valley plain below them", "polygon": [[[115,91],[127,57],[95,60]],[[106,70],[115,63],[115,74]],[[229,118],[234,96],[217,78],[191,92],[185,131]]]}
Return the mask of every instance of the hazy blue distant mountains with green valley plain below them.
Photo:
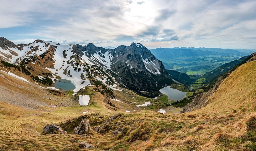
{"label": "hazy blue distant mountains with green valley plain below them", "polygon": [[251,54],[232,49],[194,47],[157,48],[150,51],[163,61],[166,69],[190,75],[204,75],[222,64]]}

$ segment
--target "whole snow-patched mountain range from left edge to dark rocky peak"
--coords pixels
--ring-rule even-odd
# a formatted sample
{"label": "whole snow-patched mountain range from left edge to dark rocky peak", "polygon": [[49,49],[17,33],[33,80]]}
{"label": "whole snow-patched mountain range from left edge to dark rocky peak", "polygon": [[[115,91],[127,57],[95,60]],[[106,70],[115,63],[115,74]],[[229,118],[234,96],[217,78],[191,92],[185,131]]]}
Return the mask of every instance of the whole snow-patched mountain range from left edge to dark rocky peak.
{"label": "whole snow-patched mountain range from left edge to dark rocky peak", "polygon": [[[173,83],[162,62],[139,43],[105,49],[92,43],[61,45],[44,40],[15,45],[1,37],[0,59],[21,68],[27,79],[49,87],[57,79],[71,80],[75,92],[96,80],[113,90],[122,91],[125,87],[155,97],[160,94],[159,89]],[[53,83],[44,83],[45,79]]]}

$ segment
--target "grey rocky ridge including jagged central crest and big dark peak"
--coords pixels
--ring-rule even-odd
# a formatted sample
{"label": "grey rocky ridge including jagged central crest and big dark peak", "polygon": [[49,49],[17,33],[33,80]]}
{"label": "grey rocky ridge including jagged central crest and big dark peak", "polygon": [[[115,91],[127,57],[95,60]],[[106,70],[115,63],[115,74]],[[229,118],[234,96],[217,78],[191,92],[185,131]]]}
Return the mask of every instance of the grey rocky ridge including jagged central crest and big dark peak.
{"label": "grey rocky ridge including jagged central crest and big dark peak", "polygon": [[105,61],[93,55],[103,59],[109,57],[110,70],[118,76],[118,83],[145,96],[154,97],[160,88],[173,82],[162,62],[141,44],[105,49],[89,43],[86,46],[74,45],[73,51],[80,56],[86,55],[91,62],[102,67],[107,67],[103,64]]}

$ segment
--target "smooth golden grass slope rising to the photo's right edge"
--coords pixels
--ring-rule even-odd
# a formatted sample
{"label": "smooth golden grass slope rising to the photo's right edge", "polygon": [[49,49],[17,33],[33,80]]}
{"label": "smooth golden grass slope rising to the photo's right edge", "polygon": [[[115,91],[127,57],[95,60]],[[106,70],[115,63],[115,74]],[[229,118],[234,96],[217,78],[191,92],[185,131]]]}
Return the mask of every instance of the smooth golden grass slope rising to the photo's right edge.
{"label": "smooth golden grass slope rising to the photo's right edge", "polygon": [[211,98],[212,103],[201,110],[225,113],[243,107],[250,109],[256,101],[255,67],[256,61],[238,67],[221,83],[215,95]]}

